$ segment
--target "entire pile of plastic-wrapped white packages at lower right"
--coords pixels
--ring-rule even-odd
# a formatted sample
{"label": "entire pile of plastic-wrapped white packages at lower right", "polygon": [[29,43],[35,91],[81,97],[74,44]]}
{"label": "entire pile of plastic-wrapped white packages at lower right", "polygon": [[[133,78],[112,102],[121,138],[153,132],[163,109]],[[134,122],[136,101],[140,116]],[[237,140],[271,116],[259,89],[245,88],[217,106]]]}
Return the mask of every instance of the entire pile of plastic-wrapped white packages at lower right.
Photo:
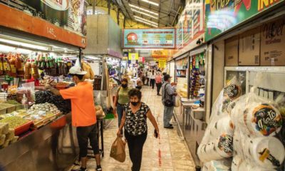
{"label": "entire pile of plastic-wrapped white packages at lower right", "polygon": [[267,171],[284,161],[284,145],[274,138],[282,125],[276,103],[254,93],[242,95],[240,85],[232,79],[213,105],[197,151],[203,171]]}

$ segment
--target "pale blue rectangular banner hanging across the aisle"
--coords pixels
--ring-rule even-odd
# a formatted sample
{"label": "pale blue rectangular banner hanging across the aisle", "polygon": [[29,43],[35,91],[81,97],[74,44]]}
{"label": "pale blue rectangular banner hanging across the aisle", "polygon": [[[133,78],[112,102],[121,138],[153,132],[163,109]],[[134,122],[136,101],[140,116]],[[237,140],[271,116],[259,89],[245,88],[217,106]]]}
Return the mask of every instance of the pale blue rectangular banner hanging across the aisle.
{"label": "pale blue rectangular banner hanging across the aisle", "polygon": [[123,48],[175,48],[175,28],[125,29]]}

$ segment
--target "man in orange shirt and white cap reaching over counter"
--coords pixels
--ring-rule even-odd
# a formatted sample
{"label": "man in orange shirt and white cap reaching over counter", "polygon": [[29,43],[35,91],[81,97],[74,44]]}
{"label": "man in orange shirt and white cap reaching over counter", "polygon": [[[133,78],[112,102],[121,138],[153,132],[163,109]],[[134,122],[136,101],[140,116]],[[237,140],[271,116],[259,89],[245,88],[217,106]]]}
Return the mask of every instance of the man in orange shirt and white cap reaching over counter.
{"label": "man in orange shirt and white cap reaching over counter", "polygon": [[63,99],[71,99],[71,118],[72,125],[76,127],[76,134],[80,149],[81,171],[86,170],[88,138],[96,160],[96,170],[102,170],[100,166],[100,153],[97,137],[96,114],[93,100],[93,86],[83,80],[86,71],[82,71],[80,67],[73,66],[69,70],[76,83],[75,87],[65,90],[57,90],[50,85],[46,85],[46,89],[51,90],[55,95],[61,95]]}

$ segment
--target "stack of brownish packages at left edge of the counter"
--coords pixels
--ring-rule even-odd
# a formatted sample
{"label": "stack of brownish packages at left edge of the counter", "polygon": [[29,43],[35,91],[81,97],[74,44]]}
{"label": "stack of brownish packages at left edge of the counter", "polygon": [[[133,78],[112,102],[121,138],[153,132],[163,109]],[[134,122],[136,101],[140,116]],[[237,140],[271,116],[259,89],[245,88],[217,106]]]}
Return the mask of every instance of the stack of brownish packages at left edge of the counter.
{"label": "stack of brownish packages at left edge of the counter", "polygon": [[8,123],[0,123],[0,148],[7,147],[18,139],[19,137],[15,136],[14,129],[9,128]]}

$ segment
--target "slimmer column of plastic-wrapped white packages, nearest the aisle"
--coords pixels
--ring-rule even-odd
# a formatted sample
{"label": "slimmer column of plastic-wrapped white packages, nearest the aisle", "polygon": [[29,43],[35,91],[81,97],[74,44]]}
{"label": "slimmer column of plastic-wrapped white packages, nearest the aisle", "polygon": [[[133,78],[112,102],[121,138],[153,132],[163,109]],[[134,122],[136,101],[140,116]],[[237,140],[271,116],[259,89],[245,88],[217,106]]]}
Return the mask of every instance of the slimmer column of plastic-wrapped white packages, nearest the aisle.
{"label": "slimmer column of plastic-wrapped white packages, nearest the aisle", "polygon": [[[242,95],[240,85],[241,82],[234,77],[214,102],[209,125],[197,150],[202,162],[221,160],[233,155],[234,125],[229,114],[234,108],[232,101]],[[232,160],[229,159],[229,162]]]}

